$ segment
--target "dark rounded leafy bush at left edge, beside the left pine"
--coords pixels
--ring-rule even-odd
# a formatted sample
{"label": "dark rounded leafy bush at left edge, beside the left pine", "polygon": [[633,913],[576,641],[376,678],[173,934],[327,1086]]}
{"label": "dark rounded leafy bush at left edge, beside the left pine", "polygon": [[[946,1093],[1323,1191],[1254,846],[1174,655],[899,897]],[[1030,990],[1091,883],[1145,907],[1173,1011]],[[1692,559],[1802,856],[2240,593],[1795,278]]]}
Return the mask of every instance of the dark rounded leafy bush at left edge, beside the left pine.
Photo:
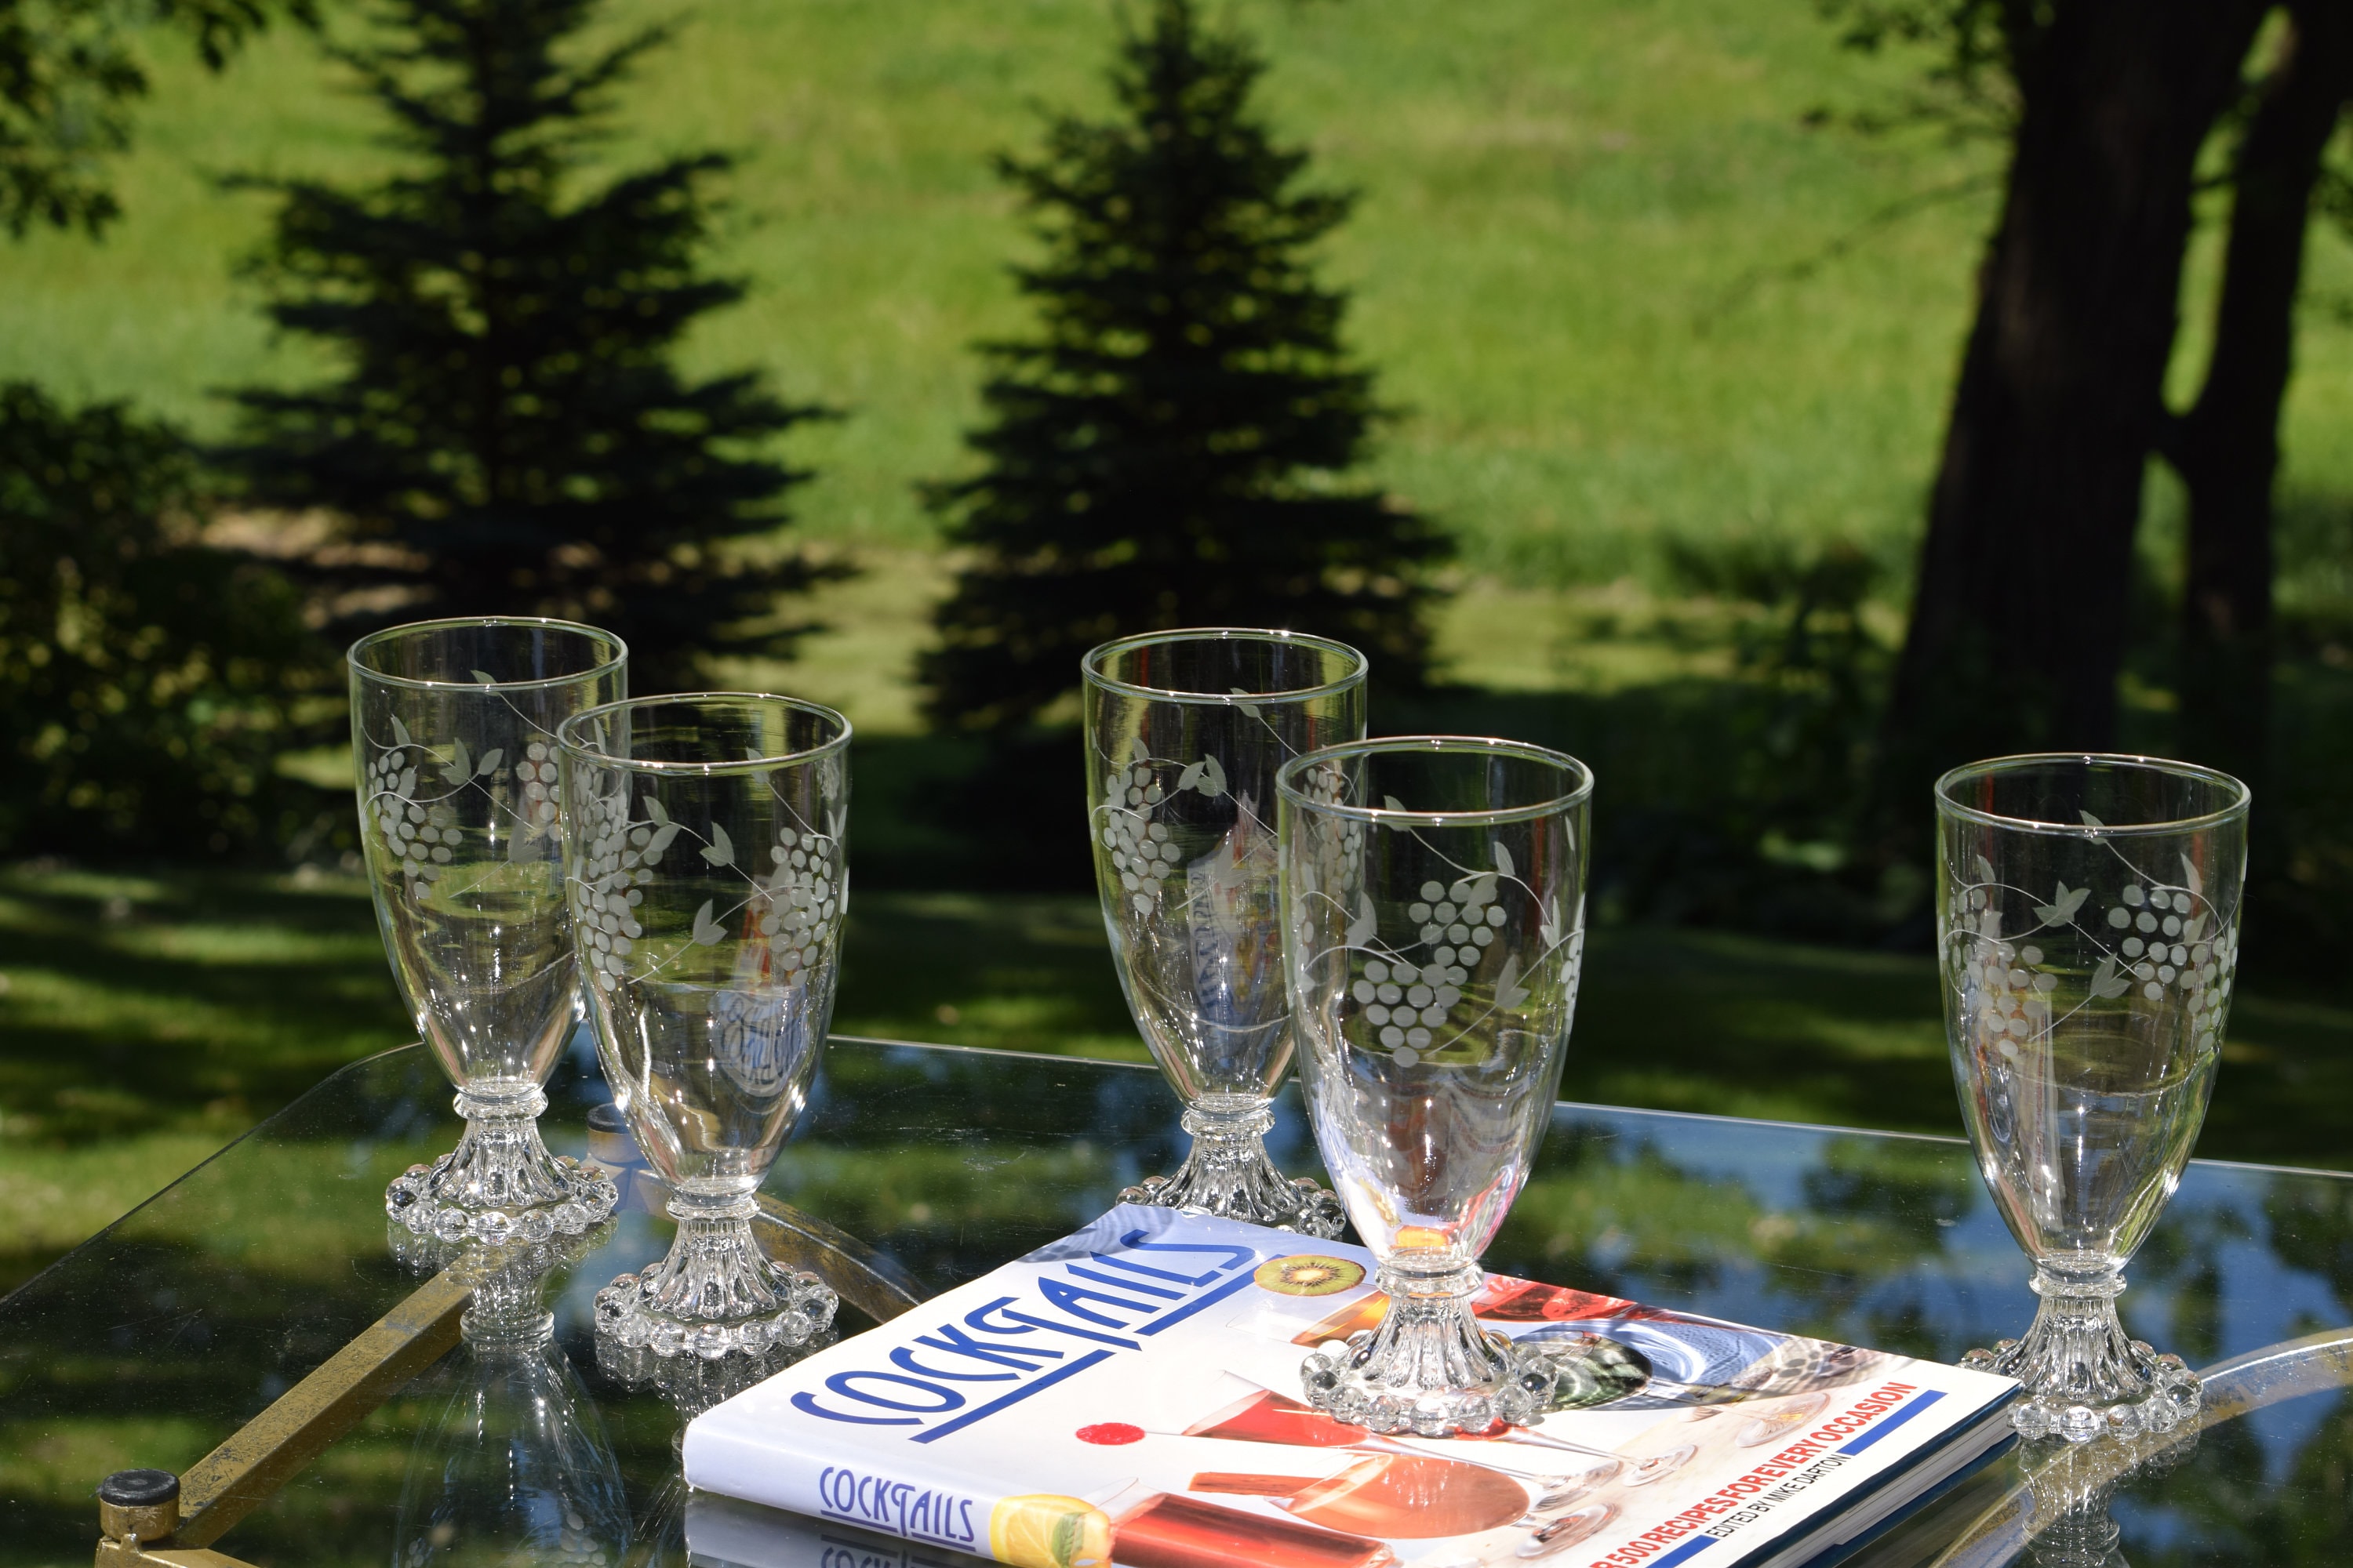
{"label": "dark rounded leafy bush at left edge, beside the left pine", "polygon": [[0,386],[0,846],[221,853],[280,827],[271,759],[327,684],[278,574],[191,538],[186,442]]}

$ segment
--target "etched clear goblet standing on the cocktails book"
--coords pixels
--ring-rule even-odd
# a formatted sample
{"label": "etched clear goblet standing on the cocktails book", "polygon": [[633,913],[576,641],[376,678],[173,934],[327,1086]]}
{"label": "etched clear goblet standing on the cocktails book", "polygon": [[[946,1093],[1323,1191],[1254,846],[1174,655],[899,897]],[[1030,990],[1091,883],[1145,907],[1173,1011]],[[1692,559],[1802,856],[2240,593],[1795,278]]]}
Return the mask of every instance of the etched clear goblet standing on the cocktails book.
{"label": "etched clear goblet standing on the cocktails book", "polygon": [[1548,1352],[1480,1328],[1471,1300],[1560,1086],[1593,773],[1421,736],[1311,752],[1278,785],[1299,1077],[1388,1295],[1377,1328],[1308,1356],[1306,1396],[1369,1432],[1527,1425]]}

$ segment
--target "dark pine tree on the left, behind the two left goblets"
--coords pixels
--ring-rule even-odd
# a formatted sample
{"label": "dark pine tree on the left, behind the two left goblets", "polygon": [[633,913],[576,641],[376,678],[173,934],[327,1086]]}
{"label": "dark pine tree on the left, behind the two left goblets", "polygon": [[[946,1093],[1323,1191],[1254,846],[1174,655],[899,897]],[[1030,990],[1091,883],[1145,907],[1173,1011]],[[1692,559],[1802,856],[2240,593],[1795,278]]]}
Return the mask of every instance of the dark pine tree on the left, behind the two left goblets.
{"label": "dark pine tree on the left, behind the two left goblets", "polygon": [[[341,357],[322,386],[249,388],[231,465],[249,498],[325,508],[313,562],[336,630],[433,614],[560,614],[631,644],[631,682],[699,651],[774,651],[779,595],[819,574],[760,536],[807,475],[760,454],[819,409],[758,374],[687,383],[685,329],[744,284],[708,277],[729,158],[671,158],[576,195],[614,87],[661,28],[567,63],[598,0],[381,0],[332,49],[409,167],[280,195],[259,259],[278,327]],[[367,592],[374,590],[374,592]]]}

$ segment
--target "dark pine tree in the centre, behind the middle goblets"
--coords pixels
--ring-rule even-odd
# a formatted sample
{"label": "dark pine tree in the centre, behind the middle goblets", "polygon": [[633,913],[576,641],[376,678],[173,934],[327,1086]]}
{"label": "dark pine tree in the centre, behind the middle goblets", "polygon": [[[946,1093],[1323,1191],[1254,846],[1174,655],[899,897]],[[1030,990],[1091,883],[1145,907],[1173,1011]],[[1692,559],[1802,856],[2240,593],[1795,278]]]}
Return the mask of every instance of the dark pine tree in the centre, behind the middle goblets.
{"label": "dark pine tree in the centre, behind the middle goblets", "polygon": [[1042,158],[998,160],[1047,249],[1016,268],[1040,334],[984,348],[986,465],[929,496],[976,552],[922,665],[939,722],[1019,724],[1089,644],[1167,625],[1322,632],[1421,677],[1445,541],[1341,477],[1381,409],[1308,249],[1351,197],[1299,188],[1308,155],[1249,106],[1261,71],[1193,0],[1153,0],[1115,118],[1059,115]]}

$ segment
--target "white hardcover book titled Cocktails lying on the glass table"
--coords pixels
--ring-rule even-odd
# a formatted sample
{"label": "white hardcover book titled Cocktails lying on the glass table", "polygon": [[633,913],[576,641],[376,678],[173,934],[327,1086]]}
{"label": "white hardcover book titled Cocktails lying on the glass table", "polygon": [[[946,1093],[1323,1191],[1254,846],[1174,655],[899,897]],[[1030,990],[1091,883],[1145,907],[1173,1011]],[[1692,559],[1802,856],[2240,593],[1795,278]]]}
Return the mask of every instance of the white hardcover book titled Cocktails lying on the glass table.
{"label": "white hardcover book titled Cocktails lying on the glass table", "polygon": [[2007,1378],[1499,1274],[1478,1316],[1560,1342],[1581,1408],[1377,1436],[1299,1387],[1379,1321],[1369,1269],[1120,1206],[706,1410],[687,1481],[1019,1568],[1781,1568],[2009,1436]]}

